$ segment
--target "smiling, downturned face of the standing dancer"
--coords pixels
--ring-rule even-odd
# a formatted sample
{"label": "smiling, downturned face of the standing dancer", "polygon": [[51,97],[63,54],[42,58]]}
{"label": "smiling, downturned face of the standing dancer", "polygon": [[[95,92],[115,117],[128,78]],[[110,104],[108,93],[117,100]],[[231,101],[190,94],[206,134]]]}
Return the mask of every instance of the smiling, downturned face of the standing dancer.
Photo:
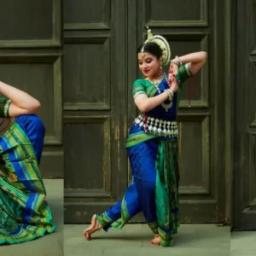
{"label": "smiling, downturned face of the standing dancer", "polygon": [[160,72],[160,60],[148,52],[138,53],[138,64],[145,77],[154,78]]}

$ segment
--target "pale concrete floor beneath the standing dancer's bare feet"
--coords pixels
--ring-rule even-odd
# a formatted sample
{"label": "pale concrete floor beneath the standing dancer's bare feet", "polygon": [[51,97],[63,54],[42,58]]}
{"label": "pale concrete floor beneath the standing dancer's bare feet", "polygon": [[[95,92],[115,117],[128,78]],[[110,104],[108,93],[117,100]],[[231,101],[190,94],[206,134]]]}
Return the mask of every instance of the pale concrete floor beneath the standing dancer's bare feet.
{"label": "pale concrete floor beneath the standing dancer's bare feet", "polygon": [[92,236],[92,241],[84,239],[83,230],[86,227],[64,225],[65,256],[230,255],[230,227],[183,224],[174,236],[174,247],[152,246],[150,240],[153,235],[147,224],[127,224],[123,230],[111,229],[108,233],[101,230]]}

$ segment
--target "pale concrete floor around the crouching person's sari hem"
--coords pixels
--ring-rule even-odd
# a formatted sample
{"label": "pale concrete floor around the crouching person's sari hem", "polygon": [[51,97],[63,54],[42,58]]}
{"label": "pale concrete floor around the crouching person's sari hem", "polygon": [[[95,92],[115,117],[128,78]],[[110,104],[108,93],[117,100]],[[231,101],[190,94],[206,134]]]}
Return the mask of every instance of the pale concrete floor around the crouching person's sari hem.
{"label": "pale concrete floor around the crouching person's sari hem", "polygon": [[17,245],[0,246],[4,256],[62,256],[63,255],[63,179],[44,180],[47,201],[56,224],[55,233]]}

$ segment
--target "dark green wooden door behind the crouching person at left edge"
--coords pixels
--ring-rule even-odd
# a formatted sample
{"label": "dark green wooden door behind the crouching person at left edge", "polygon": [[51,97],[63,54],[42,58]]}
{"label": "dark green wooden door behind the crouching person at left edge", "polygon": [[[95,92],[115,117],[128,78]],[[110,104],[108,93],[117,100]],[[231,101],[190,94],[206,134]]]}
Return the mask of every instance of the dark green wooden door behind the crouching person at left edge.
{"label": "dark green wooden door behind the crouching person at left edge", "polygon": [[0,80],[41,102],[40,170],[43,177],[63,177],[61,0],[2,1],[0,31]]}

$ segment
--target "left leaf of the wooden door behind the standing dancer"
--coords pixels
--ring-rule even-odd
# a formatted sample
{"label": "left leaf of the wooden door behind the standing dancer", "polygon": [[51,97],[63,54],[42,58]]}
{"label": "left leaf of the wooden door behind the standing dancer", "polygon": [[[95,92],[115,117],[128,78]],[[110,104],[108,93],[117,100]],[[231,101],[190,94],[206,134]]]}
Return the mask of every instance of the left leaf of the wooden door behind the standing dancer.
{"label": "left leaf of the wooden door behind the standing dancer", "polygon": [[83,223],[127,183],[125,1],[66,0],[64,22],[65,222]]}

